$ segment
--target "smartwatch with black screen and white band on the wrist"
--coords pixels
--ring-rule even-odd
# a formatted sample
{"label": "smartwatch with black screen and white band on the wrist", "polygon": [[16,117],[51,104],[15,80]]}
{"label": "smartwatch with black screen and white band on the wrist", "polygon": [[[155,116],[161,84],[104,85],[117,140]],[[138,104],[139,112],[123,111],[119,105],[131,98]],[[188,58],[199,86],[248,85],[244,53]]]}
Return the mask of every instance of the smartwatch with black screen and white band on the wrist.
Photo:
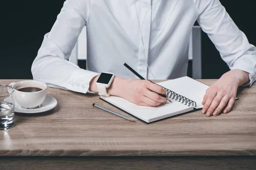
{"label": "smartwatch with black screen and white band on the wrist", "polygon": [[97,79],[96,85],[99,91],[100,96],[108,97],[107,88],[111,85],[113,79],[115,78],[115,74],[102,72]]}

